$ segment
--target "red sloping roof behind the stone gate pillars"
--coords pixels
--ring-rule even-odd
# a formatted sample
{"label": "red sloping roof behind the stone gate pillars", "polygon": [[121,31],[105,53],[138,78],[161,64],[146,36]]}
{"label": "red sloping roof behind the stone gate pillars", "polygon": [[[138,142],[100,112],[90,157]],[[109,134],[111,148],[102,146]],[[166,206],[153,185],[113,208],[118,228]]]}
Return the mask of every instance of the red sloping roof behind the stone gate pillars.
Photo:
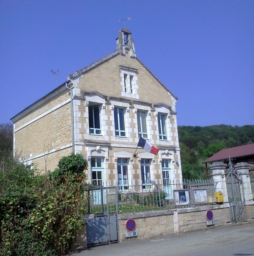
{"label": "red sloping roof behind the stone gate pillars", "polygon": [[237,158],[242,156],[254,155],[254,143],[239,147],[225,148],[217,152],[213,156],[207,158],[202,163],[216,162],[230,158]]}

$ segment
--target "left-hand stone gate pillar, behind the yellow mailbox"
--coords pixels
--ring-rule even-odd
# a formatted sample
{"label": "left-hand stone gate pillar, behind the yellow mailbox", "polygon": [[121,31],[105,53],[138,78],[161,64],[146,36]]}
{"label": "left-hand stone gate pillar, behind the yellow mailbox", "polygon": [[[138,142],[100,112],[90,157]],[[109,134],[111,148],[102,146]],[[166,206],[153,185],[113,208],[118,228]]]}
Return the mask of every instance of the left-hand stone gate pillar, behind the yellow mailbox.
{"label": "left-hand stone gate pillar, behind the yellow mailbox", "polygon": [[213,172],[215,192],[223,193],[224,202],[228,202],[228,191],[226,185],[226,178],[224,175],[226,167],[227,164],[224,164],[222,162],[214,162],[213,164],[209,165],[209,168]]}

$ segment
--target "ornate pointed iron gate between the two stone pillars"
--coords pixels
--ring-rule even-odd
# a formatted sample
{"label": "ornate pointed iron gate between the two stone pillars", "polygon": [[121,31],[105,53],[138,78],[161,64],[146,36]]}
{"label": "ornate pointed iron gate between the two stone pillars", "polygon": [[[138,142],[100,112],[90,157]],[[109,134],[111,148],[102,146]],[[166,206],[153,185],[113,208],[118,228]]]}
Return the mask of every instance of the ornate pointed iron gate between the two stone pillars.
{"label": "ornate pointed iron gate between the two stone pillars", "polygon": [[241,173],[233,168],[229,158],[229,168],[225,172],[228,199],[230,203],[231,222],[244,222],[247,220],[245,199],[242,186]]}

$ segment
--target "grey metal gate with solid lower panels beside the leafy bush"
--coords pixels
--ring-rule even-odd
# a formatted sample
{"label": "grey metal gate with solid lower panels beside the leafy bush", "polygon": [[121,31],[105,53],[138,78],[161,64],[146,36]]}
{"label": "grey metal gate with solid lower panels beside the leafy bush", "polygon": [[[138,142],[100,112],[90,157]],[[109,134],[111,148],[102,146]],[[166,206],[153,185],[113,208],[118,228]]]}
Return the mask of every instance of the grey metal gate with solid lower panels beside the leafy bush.
{"label": "grey metal gate with solid lower panels beside the leafy bush", "polygon": [[87,246],[118,242],[117,187],[93,187],[88,194]]}

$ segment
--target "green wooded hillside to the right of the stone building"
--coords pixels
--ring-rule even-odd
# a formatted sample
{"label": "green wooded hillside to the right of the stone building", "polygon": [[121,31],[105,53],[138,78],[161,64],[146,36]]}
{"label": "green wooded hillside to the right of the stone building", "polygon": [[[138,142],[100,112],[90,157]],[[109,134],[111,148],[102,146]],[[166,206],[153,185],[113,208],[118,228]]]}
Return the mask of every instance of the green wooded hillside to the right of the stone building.
{"label": "green wooded hillside to the right of the stone building", "polygon": [[254,125],[178,126],[178,136],[183,178],[205,178],[201,162],[223,148],[254,143]]}

